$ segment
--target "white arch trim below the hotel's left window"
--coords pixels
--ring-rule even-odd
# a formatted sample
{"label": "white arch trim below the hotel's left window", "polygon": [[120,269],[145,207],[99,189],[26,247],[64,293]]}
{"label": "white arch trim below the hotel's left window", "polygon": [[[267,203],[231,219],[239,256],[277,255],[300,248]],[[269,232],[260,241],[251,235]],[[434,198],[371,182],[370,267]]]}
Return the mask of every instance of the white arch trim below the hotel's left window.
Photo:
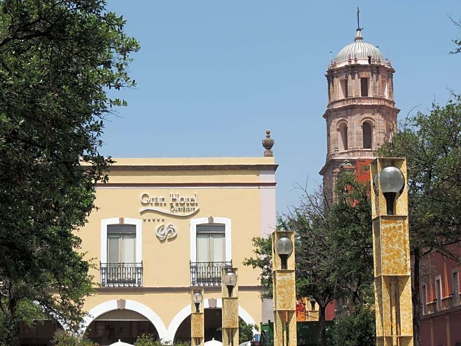
{"label": "white arch trim below the hotel's left window", "polygon": [[[117,309],[118,309],[117,300],[109,300],[109,301],[103,302],[102,304],[95,306],[93,309],[91,309],[88,312],[88,315],[83,320],[81,332],[84,332],[85,329],[88,328],[88,326],[94,319],[98,318],[102,314],[105,314],[106,312],[117,310]],[[154,324],[154,327],[157,330],[159,338],[164,339],[166,335],[168,334],[167,329],[162,319],[160,319],[160,317],[148,306],[142,303],[139,303],[135,300],[127,299],[125,301],[125,310],[135,311],[143,315],[147,319],[149,319],[152,322],[152,324]]]}

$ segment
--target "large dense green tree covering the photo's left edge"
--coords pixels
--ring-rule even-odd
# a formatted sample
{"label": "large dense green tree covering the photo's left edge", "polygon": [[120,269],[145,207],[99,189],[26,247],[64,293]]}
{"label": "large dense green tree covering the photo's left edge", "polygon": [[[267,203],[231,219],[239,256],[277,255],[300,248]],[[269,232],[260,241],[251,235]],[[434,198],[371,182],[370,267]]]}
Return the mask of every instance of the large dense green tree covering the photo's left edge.
{"label": "large dense green tree covering the photo's left edge", "polygon": [[[109,89],[134,85],[139,49],[103,0],[0,1],[0,319],[4,343],[19,321],[45,314],[77,328],[91,293],[74,235],[94,209],[111,163],[98,150]],[[33,315],[30,315],[33,313]]]}

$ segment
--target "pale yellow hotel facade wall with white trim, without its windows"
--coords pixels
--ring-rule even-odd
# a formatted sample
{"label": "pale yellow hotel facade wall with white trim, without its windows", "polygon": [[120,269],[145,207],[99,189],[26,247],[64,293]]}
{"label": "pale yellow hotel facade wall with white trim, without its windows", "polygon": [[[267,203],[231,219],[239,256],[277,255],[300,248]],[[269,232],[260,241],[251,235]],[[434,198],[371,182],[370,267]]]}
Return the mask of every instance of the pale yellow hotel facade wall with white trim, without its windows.
{"label": "pale yellow hotel facade wall with white trim, without its windows", "polygon": [[[82,250],[95,265],[91,274],[105,286],[86,300],[91,316],[84,327],[94,328],[98,318],[116,325],[107,322],[109,312],[136,311],[154,325],[158,337],[172,341],[190,315],[192,288],[204,289],[205,308],[219,309],[221,287],[198,283],[191,270],[191,262],[197,262],[197,224],[225,224],[226,262],[238,267],[239,316],[248,323],[262,321],[259,271],[242,262],[253,254],[252,238],[275,229],[274,158],[116,161],[109,182],[97,186],[98,210],[78,233]],[[136,225],[135,257],[142,262],[142,278],[134,269],[136,279],[128,284],[105,281],[100,262],[107,262],[108,225]],[[169,225],[173,237],[161,240]],[[128,332],[117,328],[115,338],[123,339]],[[107,330],[100,334],[102,343],[107,342]]]}

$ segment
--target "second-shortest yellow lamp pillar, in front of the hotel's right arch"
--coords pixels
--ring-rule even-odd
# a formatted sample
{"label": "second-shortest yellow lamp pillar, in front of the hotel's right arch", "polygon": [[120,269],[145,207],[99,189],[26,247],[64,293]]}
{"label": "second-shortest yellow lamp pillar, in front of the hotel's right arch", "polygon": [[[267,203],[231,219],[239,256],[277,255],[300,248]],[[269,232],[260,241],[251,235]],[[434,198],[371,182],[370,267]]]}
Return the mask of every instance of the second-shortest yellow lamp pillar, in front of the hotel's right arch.
{"label": "second-shortest yellow lamp pillar, in front of the hotel's right arch", "polygon": [[238,346],[238,269],[222,268],[223,346]]}

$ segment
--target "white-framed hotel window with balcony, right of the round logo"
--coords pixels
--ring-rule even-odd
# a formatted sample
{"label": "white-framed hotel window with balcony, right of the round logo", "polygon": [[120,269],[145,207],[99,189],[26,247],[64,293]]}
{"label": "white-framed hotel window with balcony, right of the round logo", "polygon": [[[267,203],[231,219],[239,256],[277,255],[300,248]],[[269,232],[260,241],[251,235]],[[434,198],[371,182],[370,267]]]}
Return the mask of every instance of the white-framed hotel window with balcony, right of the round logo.
{"label": "white-framed hotel window with balcony, right of the round logo", "polygon": [[192,219],[190,241],[191,286],[221,286],[222,268],[232,266],[230,219]]}

